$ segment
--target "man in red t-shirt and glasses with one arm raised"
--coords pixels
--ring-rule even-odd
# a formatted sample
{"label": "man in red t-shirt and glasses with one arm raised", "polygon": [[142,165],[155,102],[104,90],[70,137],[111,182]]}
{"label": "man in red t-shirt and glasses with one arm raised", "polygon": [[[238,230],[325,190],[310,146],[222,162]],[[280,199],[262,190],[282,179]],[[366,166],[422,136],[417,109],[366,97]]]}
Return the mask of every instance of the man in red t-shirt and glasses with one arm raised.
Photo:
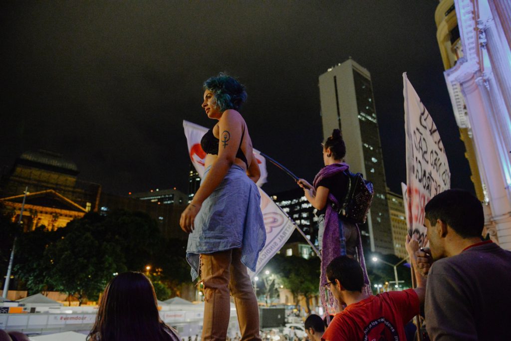
{"label": "man in red t-shirt and glasses with one arm raised", "polygon": [[[407,237],[408,253],[419,249],[417,241]],[[415,265],[415,257],[411,257]],[[414,266],[416,268],[416,266]],[[426,280],[416,272],[417,287],[403,291],[389,291],[376,296],[362,293],[364,276],[360,264],[347,256],[332,260],[327,267],[327,289],[339,305],[346,308],[337,313],[324,332],[327,341],[403,341],[404,325],[419,314],[424,303]]]}

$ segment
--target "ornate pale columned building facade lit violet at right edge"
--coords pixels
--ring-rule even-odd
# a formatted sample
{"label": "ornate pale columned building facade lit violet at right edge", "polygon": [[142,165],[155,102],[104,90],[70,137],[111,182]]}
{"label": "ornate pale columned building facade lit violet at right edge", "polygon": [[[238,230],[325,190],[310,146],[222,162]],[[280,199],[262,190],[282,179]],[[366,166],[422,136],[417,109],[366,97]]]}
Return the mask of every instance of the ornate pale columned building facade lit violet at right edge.
{"label": "ornate pale columned building facade lit violet at right edge", "polygon": [[[511,3],[445,0],[435,20],[444,64],[452,64],[444,76],[456,121],[472,138],[485,232],[511,250]],[[459,41],[442,44],[442,36],[452,32],[455,23]]]}

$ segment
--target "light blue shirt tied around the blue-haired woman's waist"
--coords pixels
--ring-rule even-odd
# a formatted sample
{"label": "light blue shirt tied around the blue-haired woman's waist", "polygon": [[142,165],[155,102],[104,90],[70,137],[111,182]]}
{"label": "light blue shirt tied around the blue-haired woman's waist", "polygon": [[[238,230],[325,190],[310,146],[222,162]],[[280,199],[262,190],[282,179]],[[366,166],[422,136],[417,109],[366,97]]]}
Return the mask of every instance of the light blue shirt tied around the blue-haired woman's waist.
{"label": "light blue shirt tied around the blue-haired woman's waist", "polygon": [[[207,167],[202,181],[210,171]],[[266,243],[261,195],[242,167],[233,165],[220,185],[204,200],[188,236],[187,261],[192,280],[199,274],[199,255],[241,248],[241,261],[255,271]]]}

